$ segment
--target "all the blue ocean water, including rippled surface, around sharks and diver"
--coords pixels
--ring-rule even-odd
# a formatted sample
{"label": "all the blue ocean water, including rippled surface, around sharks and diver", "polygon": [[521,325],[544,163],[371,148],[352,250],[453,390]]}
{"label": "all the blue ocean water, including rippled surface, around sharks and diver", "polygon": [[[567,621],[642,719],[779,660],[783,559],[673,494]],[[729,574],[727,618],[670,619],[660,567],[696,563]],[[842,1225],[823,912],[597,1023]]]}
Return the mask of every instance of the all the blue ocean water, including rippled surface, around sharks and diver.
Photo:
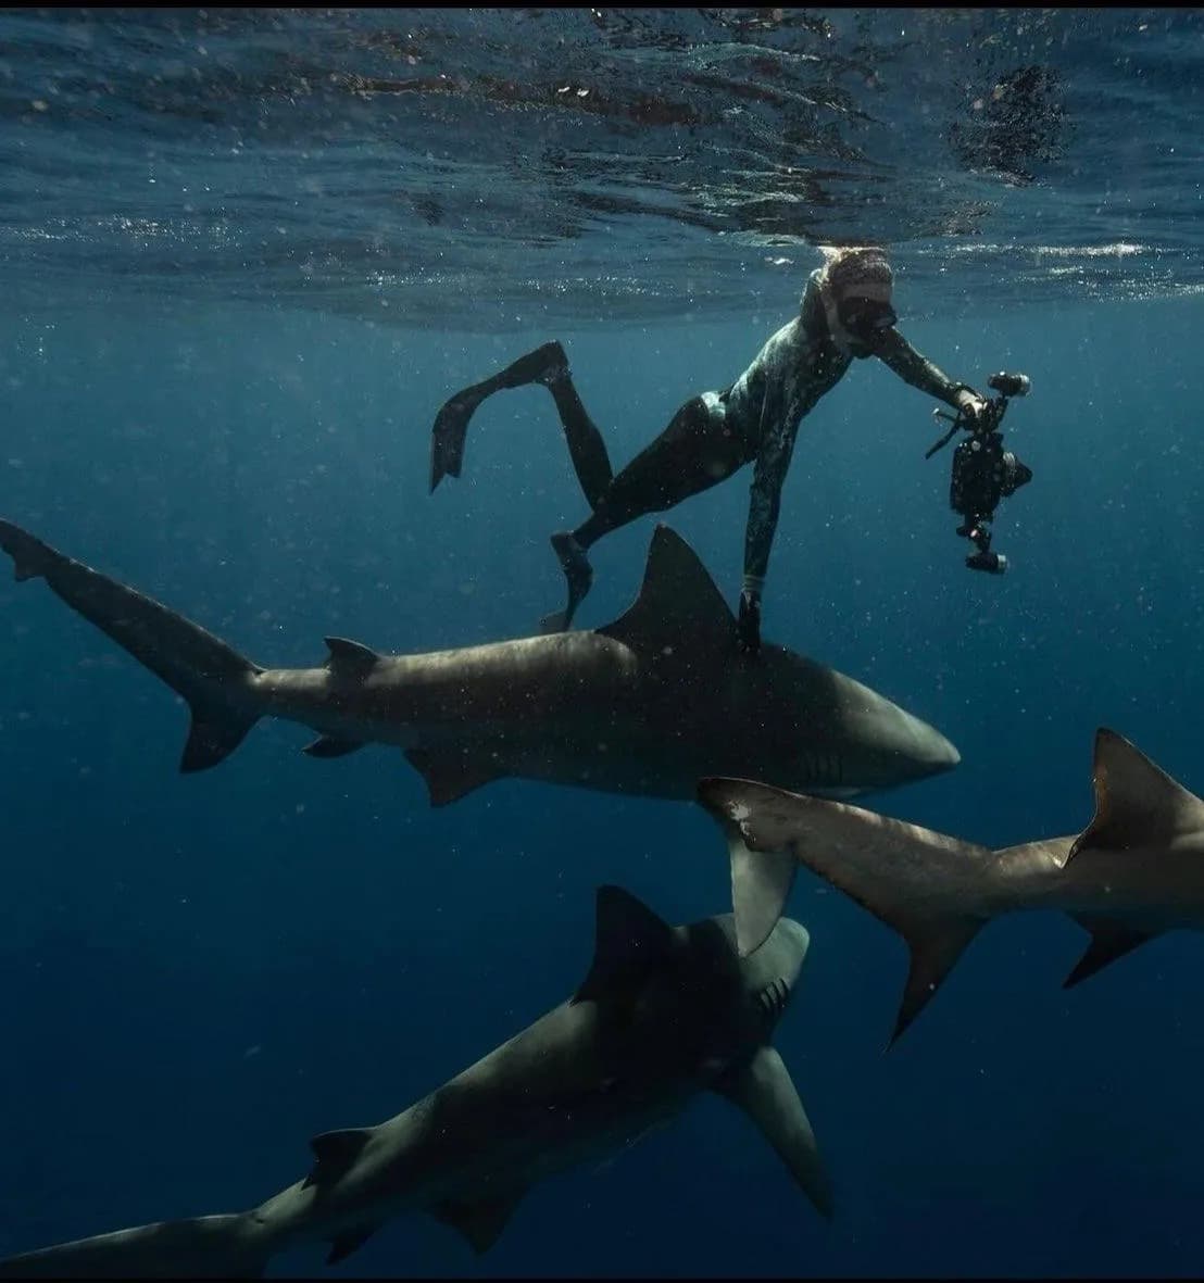
{"label": "all the blue ocean water, including rippled surface, around sharks and diver", "polygon": [[[259,662],[525,635],[584,516],[551,400],[492,399],[429,495],[443,400],[560,337],[621,464],[741,373],[818,244],[875,240],[913,344],[1032,378],[1011,570],[963,567],[933,403],[859,362],[800,430],[765,635],[958,744],[886,813],[1073,833],[1101,725],[1204,789],[1201,37],[1162,9],[8,12],[0,514]],[[733,600],[746,512],[741,473],[666,518]],[[652,525],[598,545],[581,626]],[[504,780],[433,810],[398,753],[311,761],[280,722],[181,776],[186,711],[40,582],[0,584],[0,1255],[258,1202],[560,1002],[602,883],[730,906],[691,804]],[[883,1055],[904,944],[809,875],[791,913],[775,1043],[830,1225],[705,1097],[485,1256],[415,1215],[326,1273],[1199,1274],[1198,935],[1064,992],[1082,931],[1000,920]]]}

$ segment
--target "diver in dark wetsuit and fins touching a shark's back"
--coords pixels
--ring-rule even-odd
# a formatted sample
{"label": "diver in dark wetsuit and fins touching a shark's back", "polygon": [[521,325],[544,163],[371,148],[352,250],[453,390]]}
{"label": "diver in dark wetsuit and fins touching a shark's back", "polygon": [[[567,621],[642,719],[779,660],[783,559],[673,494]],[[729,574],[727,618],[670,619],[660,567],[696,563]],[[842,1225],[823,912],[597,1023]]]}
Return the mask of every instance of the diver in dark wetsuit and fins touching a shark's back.
{"label": "diver in dark wetsuit and fins touching a shark's back", "polygon": [[465,434],[476,407],[503,387],[543,384],[556,402],[572,466],[592,509],[576,530],[552,535],[565,571],[565,609],[543,621],[560,631],[589,591],[588,549],[603,535],[648,512],[664,512],[755,463],[744,535],[744,581],[739,597],[741,649],[760,647],[761,589],[778,525],[782,484],[798,423],[833,387],[852,359],[878,357],[905,382],[967,417],[986,405],[967,384],[955,384],[895,328],[893,276],[877,249],[829,251],[811,272],[798,316],[774,334],[752,364],[721,393],[688,400],[661,435],[614,475],[602,435],[581,404],[558,343],[548,343],[480,384],[458,391],[434,427],[431,490],[444,475],[460,475]]}

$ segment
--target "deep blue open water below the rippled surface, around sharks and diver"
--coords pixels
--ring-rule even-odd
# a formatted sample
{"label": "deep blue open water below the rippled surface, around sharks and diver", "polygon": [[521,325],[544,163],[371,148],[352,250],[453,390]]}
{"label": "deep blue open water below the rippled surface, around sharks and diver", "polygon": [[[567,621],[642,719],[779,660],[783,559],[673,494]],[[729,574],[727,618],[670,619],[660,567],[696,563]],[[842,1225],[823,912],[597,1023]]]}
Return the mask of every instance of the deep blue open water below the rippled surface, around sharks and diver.
{"label": "deep blue open water below the rippled surface, around sharks and diver", "polygon": [[[996,303],[983,255],[954,253],[973,237],[929,278],[942,244],[897,248],[902,331],[954,377],[1032,377],[1006,432],[1036,477],[996,522],[1013,568],[963,568],[949,457],[923,459],[932,402],[857,363],[800,431],[764,630],[960,748],[956,771],[870,804],[1004,845],[1090,820],[1100,725],[1204,788],[1204,303],[1077,278],[1040,305],[1002,280]],[[440,403],[560,336],[625,462],[791,316],[818,262],[804,237],[791,253],[727,310],[629,299],[574,321],[561,300],[538,328],[507,326],[480,280],[389,325],[223,302],[186,275],[119,307],[58,281],[54,305],[0,316],[0,513],[259,662],[317,662],[326,634],[395,652],[524,635],[561,600],[547,534],[584,514],[551,402],[489,402],[463,479],[429,497]],[[742,473],[667,518],[729,597],[746,506]],[[583,626],[630,602],[651,530],[598,547]],[[694,806],[499,781],[436,811],[398,753],[311,761],[277,722],[181,776],[185,709],[39,582],[0,584],[0,1255],[258,1202],[305,1170],[312,1134],[395,1114],[560,1002],[601,883],[675,922],[729,908]],[[905,947],[806,875],[791,912],[813,947],[777,1046],[832,1225],[707,1097],[535,1188],[484,1257],[408,1216],[330,1277],[1199,1273],[1198,935],[1067,993],[1079,929],[1004,919],[883,1056]],[[272,1273],[320,1265],[298,1250]]]}

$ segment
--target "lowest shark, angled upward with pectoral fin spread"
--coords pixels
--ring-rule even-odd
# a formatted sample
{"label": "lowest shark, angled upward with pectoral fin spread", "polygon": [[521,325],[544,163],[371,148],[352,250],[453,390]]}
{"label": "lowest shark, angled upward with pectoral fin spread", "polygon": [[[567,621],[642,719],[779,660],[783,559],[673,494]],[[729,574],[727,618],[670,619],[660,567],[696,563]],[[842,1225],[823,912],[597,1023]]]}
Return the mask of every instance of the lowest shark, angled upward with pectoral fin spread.
{"label": "lowest shark, angled upward with pectoral fin spread", "polygon": [[304,1179],[250,1211],[13,1256],[0,1277],[249,1278],[303,1242],[340,1261],[407,1210],[483,1252],[530,1185],[621,1151],[702,1091],[743,1109],[829,1216],[811,1125],[770,1043],[807,943],[782,919],[741,958],[730,915],[674,928],[599,888],[593,965],[567,1002],[389,1121],[314,1137]]}

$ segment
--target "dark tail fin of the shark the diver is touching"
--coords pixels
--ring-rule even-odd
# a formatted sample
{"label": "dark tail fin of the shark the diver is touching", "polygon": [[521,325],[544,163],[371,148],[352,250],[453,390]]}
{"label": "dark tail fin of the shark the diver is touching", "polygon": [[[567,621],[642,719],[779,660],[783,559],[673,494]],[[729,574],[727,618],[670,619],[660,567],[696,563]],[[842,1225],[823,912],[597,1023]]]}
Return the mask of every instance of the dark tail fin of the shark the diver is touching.
{"label": "dark tail fin of the shark the diver is touching", "polygon": [[245,693],[262,668],[166,606],[0,521],[0,548],[19,580],[41,577],[73,611],[178,692],[193,712],[181,771],[216,766],[259,720]]}

